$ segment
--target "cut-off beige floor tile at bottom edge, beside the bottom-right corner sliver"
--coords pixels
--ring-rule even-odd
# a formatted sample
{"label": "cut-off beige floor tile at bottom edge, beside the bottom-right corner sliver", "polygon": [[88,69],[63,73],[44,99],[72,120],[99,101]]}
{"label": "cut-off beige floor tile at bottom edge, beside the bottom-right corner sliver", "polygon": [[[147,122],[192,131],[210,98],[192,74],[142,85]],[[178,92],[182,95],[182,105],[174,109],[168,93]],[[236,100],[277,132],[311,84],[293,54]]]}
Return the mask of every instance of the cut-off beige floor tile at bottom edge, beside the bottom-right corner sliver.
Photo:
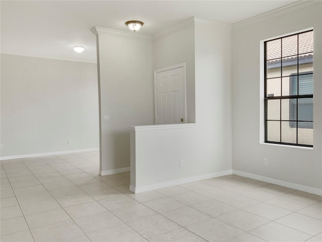
{"label": "cut-off beige floor tile at bottom edge, beside the bottom-right corner sliver", "polygon": [[267,241],[276,242],[301,242],[311,237],[311,235],[307,233],[300,232],[275,222],[270,222],[258,228],[252,229],[249,231],[249,233]]}

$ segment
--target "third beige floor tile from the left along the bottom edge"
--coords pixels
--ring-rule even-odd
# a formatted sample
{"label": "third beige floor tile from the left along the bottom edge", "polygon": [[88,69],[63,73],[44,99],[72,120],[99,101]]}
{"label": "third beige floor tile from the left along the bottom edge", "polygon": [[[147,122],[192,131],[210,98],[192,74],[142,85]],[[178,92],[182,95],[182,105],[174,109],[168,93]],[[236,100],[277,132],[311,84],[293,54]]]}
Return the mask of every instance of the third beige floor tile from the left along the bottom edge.
{"label": "third beige floor tile from the left along the bottom edge", "polygon": [[139,242],[144,238],[126,224],[118,225],[87,234],[92,242]]}

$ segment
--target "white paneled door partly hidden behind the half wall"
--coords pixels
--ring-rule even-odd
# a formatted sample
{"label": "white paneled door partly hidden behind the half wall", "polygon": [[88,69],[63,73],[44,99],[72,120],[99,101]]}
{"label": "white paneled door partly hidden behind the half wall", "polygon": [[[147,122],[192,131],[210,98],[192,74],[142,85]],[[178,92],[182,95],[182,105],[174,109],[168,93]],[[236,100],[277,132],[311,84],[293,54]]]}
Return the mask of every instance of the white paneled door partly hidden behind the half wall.
{"label": "white paneled door partly hidden behind the half wall", "polygon": [[186,123],[186,68],[185,64],[160,69],[155,75],[155,123]]}

